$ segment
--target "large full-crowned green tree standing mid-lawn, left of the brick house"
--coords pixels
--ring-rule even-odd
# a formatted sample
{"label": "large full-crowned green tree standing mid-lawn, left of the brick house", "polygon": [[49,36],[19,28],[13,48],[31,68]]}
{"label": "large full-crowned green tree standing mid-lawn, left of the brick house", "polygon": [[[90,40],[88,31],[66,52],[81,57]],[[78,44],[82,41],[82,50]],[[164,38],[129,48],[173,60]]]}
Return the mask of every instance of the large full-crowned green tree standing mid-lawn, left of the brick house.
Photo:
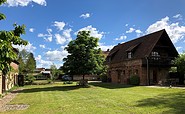
{"label": "large full-crowned green tree standing mid-lawn, left of the brick house", "polygon": [[101,74],[105,58],[98,49],[98,38],[90,36],[90,31],[80,31],[77,38],[65,48],[69,55],[64,58],[63,71],[70,75]]}

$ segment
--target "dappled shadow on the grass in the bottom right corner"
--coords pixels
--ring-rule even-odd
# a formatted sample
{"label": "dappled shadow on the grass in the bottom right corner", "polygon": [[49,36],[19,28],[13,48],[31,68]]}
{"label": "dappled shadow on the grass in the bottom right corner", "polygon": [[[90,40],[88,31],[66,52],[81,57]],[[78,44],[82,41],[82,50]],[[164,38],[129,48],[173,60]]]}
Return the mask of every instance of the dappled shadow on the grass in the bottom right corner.
{"label": "dappled shadow on the grass in the bottom right corner", "polygon": [[137,107],[167,108],[164,114],[185,114],[185,92],[161,94],[155,98],[138,101]]}

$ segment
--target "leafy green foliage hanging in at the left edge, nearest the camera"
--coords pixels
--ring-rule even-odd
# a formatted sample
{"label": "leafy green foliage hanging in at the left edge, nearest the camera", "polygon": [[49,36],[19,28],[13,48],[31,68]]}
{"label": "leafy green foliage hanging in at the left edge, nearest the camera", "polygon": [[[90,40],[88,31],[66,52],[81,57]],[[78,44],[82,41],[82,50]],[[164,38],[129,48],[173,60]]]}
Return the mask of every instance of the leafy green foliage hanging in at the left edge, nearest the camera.
{"label": "leafy green foliage hanging in at the left edge, nearest the camera", "polygon": [[[6,0],[0,0],[0,5]],[[0,13],[0,20],[6,19],[6,16]],[[13,48],[14,45],[27,45],[28,42],[20,36],[25,34],[25,26],[14,24],[14,30],[0,31],[0,70],[6,75],[10,70],[10,63],[17,59],[17,54]]]}

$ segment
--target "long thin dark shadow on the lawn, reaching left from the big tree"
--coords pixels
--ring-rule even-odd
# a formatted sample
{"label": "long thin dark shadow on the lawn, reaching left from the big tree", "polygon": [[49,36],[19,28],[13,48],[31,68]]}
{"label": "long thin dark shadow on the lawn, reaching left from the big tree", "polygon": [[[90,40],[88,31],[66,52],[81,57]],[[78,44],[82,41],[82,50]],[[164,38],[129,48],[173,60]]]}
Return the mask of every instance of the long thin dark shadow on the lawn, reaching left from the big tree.
{"label": "long thin dark shadow on the lawn, reaching left from the big tree", "polygon": [[23,89],[22,91],[19,91],[19,93],[34,93],[34,92],[41,92],[41,91],[71,91],[79,88],[89,88],[89,86],[72,85],[72,86],[41,87],[41,88]]}

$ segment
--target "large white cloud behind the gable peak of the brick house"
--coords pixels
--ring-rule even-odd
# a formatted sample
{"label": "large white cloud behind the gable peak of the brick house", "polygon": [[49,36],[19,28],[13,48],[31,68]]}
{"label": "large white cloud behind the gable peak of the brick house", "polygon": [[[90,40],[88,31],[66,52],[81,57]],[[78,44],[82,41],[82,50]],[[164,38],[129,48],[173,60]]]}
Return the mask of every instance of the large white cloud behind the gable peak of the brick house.
{"label": "large white cloud behind the gable peak of the brick house", "polygon": [[171,23],[169,17],[162,18],[160,21],[150,25],[146,33],[152,33],[165,29],[173,43],[177,43],[185,37],[185,26],[180,26],[179,23]]}

